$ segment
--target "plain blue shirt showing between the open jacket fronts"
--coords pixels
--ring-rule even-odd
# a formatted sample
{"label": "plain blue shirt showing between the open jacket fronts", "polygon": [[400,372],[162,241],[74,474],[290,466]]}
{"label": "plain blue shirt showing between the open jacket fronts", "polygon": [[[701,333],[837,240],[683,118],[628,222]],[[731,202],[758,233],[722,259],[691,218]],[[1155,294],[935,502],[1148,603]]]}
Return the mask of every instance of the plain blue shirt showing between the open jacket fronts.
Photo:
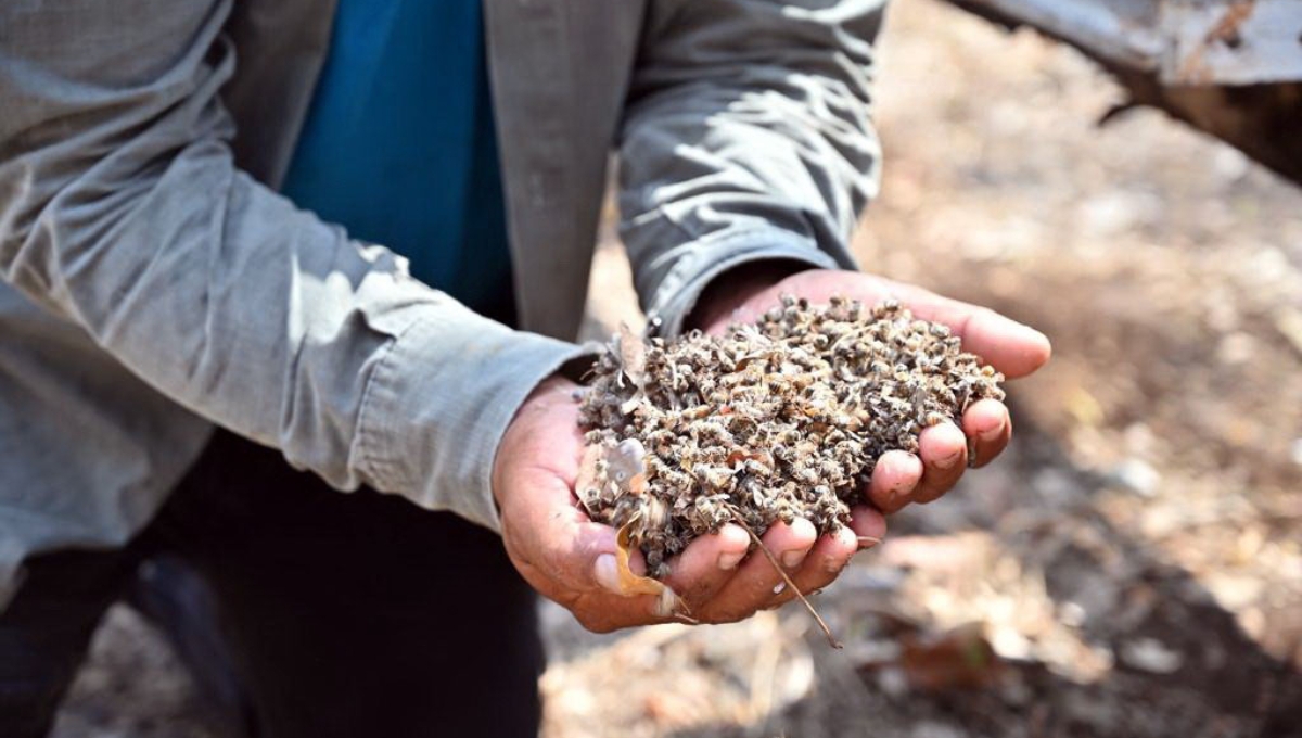
{"label": "plain blue shirt showing between the open jacket fronts", "polygon": [[340,0],[283,186],[510,323],[510,255],[480,0]]}

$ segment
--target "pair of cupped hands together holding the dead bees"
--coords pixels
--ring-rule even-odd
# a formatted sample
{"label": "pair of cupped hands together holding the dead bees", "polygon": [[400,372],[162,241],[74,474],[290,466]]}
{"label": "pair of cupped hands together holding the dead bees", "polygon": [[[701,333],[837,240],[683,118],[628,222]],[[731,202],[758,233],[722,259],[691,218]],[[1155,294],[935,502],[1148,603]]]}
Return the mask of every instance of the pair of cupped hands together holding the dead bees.
{"label": "pair of cupped hands together holding the dead bees", "polygon": [[[965,350],[1009,379],[1034,372],[1049,358],[1048,340],[1032,328],[983,307],[857,272],[790,273],[780,266],[746,269],[712,286],[691,321],[717,333],[729,323],[758,319],[783,294],[815,303],[833,294],[866,305],[898,299],[918,318],[949,325]],[[697,622],[733,622],[796,596],[767,557],[746,556],[749,534],[734,525],[698,538],[669,561],[665,584],[681,597],[680,610],[665,612],[655,595],[621,594],[617,534],[592,522],[574,496],[583,452],[575,389],[562,379],[539,385],[508,428],[493,465],[503,540],[512,562],[534,588],[595,631],[682,616]],[[883,454],[867,491],[871,505],[853,509],[849,527],[818,536],[809,521],[797,519],[769,528],[764,545],[801,592],[825,587],[855,551],[880,540],[885,532],[883,513],[940,497],[962,476],[969,461],[973,466],[990,462],[1010,436],[1012,422],[1001,402],[975,402],[963,414],[961,427],[941,423],[927,428],[917,456]],[[970,459],[969,448],[974,454]],[[631,567],[635,573],[644,570],[638,552],[633,552]]]}

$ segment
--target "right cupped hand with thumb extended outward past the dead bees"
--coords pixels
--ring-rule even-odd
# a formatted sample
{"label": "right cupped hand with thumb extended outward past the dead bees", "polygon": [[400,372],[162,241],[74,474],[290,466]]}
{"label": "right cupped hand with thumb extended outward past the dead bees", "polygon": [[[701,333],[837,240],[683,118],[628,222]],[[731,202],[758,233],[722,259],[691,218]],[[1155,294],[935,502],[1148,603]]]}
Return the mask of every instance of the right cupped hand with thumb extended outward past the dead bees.
{"label": "right cupped hand with thumb extended outward past the dead bees", "polygon": [[[780,303],[784,294],[825,303],[832,295],[874,306],[893,298],[917,318],[943,323],[971,351],[1008,379],[1026,376],[1049,359],[1049,341],[1039,331],[997,312],[940,297],[922,288],[837,269],[792,273],[788,263],[760,263],[730,273],[702,295],[690,324],[721,333],[732,323],[753,323]],[[980,400],[963,413],[960,424],[940,423],[922,432],[918,454],[893,450],[872,469],[867,499],[881,513],[894,513],[910,502],[931,502],[948,492],[970,466],[983,466],[1008,445],[1013,422],[1003,402]],[[971,454],[969,457],[969,454]],[[863,510],[857,510],[863,514]]]}

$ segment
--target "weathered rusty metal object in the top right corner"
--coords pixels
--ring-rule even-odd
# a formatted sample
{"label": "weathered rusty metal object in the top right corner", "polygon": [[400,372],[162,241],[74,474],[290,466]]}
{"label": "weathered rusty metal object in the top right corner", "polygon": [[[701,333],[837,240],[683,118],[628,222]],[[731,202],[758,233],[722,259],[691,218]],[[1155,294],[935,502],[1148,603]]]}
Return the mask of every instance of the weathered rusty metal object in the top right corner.
{"label": "weathered rusty metal object in the top right corner", "polygon": [[1302,184],[1302,0],[949,0],[1072,44],[1161,108]]}

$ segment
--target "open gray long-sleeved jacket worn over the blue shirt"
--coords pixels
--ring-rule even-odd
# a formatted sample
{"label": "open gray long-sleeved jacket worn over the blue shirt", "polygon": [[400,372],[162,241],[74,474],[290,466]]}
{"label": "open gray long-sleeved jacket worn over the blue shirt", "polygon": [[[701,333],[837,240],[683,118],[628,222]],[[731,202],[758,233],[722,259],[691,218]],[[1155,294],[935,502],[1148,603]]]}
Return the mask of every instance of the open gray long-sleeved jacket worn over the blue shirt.
{"label": "open gray long-sleeved jacket worn over the blue shirt", "polygon": [[495,526],[497,441],[581,351],[612,150],[669,331],[741,263],[852,266],[881,0],[484,3],[527,332],[276,194],[329,0],[0,4],[0,604],[23,557],[128,540],[214,424]]}

